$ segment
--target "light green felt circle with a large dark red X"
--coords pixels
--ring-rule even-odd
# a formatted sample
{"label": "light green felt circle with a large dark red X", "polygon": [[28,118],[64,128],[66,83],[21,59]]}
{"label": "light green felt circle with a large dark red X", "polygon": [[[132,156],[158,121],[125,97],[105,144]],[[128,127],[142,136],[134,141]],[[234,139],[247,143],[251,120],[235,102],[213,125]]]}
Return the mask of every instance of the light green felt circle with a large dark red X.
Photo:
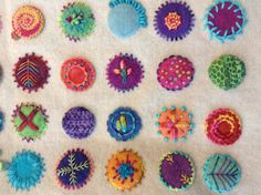
{"label": "light green felt circle with a large dark red X", "polygon": [[40,138],[48,129],[48,115],[41,105],[22,103],[13,111],[12,117],[15,131],[28,142]]}

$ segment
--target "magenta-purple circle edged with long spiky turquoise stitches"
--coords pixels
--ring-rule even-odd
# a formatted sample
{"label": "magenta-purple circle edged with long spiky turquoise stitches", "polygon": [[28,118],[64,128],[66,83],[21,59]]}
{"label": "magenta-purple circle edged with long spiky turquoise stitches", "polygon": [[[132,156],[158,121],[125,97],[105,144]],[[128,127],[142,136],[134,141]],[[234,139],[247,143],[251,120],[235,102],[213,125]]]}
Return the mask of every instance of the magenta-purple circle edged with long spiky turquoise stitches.
{"label": "magenta-purple circle edged with long spiky turquoise stitches", "polygon": [[226,40],[234,40],[243,32],[247,12],[238,0],[217,0],[207,9],[203,20],[210,39],[215,37],[223,43]]}

